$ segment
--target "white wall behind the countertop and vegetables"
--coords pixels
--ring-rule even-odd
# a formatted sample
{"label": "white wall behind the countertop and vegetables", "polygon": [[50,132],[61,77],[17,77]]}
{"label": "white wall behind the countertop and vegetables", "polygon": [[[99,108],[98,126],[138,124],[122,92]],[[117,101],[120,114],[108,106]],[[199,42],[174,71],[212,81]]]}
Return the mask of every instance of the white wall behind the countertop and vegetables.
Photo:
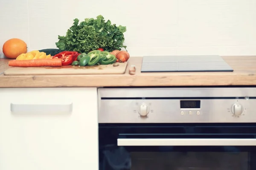
{"label": "white wall behind the countertop and vegetables", "polygon": [[256,0],[0,0],[0,46],[56,48],[73,19],[99,14],[127,26],[132,57],[256,54]]}

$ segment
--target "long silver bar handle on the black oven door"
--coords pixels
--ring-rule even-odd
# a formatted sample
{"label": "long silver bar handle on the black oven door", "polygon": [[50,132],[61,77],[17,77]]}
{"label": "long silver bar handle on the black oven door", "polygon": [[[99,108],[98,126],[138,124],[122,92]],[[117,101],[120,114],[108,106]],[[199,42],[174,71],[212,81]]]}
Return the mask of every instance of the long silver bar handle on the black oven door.
{"label": "long silver bar handle on the black oven door", "polygon": [[256,139],[117,139],[118,146],[256,146]]}

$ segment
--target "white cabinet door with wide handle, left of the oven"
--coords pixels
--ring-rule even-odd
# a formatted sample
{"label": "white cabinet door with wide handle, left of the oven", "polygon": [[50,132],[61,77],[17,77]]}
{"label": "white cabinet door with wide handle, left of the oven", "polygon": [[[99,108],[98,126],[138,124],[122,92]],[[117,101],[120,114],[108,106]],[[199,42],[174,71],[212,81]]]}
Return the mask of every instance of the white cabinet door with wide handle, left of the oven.
{"label": "white cabinet door with wide handle, left of the oven", "polygon": [[96,88],[0,88],[0,170],[98,170]]}

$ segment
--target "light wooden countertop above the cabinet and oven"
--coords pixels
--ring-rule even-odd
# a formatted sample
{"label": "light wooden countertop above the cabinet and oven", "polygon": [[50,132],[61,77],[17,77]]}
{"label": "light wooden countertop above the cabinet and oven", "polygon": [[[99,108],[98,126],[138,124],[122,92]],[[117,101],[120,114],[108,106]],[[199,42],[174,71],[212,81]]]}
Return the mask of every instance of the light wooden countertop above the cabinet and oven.
{"label": "light wooden countertop above the cabinet and oven", "polygon": [[[256,85],[256,56],[225,56],[233,72],[141,73],[142,57],[131,57],[125,74],[4,76],[0,87],[103,87],[103,86],[196,86]],[[9,59],[0,59],[0,73]],[[128,69],[136,66],[136,74]]]}

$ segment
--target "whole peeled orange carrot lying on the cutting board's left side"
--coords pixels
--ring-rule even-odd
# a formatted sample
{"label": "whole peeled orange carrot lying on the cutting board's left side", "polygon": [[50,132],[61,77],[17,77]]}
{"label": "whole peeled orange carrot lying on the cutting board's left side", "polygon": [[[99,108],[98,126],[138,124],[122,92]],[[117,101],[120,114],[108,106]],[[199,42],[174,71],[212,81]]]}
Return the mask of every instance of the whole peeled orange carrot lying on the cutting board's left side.
{"label": "whole peeled orange carrot lying on the cutting board's left side", "polygon": [[9,66],[12,67],[58,67],[61,66],[61,59],[28,59],[11,60]]}

